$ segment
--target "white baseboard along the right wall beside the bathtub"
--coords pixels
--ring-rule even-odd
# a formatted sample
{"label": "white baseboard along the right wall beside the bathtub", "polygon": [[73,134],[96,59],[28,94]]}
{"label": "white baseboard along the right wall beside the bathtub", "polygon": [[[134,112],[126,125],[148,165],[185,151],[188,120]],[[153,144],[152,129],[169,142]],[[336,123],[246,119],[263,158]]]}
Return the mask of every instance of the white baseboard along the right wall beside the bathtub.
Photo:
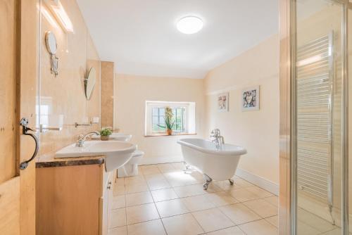
{"label": "white baseboard along the right wall beside the bathtub", "polygon": [[268,179],[264,179],[263,177],[252,174],[251,172],[241,168],[237,168],[236,175],[248,182],[251,182],[252,184],[255,184],[256,186],[259,186],[262,189],[265,189],[266,191],[269,191],[270,193],[275,194],[276,196],[279,196],[279,185]]}

